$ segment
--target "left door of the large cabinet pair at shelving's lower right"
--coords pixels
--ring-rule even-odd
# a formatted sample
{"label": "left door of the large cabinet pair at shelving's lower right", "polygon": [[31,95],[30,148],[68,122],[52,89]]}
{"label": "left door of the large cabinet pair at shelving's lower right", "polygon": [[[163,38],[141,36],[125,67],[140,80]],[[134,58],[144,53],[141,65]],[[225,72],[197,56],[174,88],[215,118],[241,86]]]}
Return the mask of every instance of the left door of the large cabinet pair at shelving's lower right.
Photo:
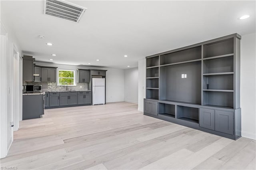
{"label": "left door of the large cabinet pair at shelving's lower right", "polygon": [[212,109],[200,108],[199,126],[214,130],[215,127],[215,111]]}

